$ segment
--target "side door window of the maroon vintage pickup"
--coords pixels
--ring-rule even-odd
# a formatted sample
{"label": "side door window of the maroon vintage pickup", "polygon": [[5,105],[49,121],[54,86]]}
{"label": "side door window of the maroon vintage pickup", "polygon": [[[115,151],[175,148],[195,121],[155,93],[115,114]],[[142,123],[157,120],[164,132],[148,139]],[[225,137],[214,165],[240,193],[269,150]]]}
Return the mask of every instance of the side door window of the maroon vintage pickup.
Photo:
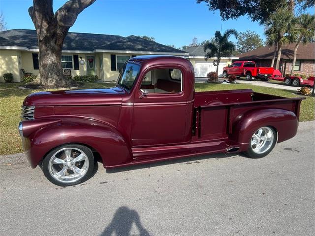
{"label": "side door window of the maroon vintage pickup", "polygon": [[183,90],[183,75],[175,68],[149,71],[142,79],[141,87],[148,94],[180,93]]}

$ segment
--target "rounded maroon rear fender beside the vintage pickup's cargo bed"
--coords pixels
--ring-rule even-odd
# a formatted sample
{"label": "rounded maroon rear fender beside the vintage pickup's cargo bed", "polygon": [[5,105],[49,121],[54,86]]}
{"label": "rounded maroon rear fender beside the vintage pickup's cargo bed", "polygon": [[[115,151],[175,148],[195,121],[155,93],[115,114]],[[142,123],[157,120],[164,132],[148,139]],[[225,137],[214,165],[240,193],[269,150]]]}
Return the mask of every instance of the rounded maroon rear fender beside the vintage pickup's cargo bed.
{"label": "rounded maroon rear fender beside the vintage pickup's cargo bed", "polygon": [[257,109],[245,113],[233,123],[229,138],[242,143],[246,149],[252,134],[262,126],[272,126],[278,132],[278,143],[296,135],[299,122],[296,115],[284,109]]}

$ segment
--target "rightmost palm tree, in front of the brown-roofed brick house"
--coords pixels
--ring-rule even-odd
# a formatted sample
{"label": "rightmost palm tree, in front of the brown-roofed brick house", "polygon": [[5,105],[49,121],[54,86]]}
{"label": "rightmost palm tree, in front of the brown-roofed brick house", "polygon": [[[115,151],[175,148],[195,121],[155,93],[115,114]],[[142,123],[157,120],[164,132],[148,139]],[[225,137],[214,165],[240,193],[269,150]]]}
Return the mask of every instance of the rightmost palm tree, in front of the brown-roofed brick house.
{"label": "rightmost palm tree, in front of the brown-roofed brick house", "polygon": [[292,42],[295,42],[294,57],[291,68],[291,75],[294,71],[297,49],[302,42],[307,44],[314,41],[314,15],[302,14],[297,18],[296,30],[291,34]]}

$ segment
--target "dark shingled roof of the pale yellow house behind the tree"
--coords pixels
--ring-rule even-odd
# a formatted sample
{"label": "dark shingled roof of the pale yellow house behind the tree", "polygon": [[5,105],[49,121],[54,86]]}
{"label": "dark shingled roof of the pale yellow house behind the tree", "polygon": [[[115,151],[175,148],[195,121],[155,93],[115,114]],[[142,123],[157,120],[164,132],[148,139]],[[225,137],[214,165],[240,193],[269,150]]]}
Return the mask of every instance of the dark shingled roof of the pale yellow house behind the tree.
{"label": "dark shingled roof of the pale yellow house behind the tree", "polygon": [[[12,29],[0,32],[0,46],[38,49],[36,31],[29,29]],[[64,40],[63,50],[119,50],[186,54],[186,52],[182,50],[168,47],[134,35],[125,38],[119,35],[71,32],[67,34]]]}

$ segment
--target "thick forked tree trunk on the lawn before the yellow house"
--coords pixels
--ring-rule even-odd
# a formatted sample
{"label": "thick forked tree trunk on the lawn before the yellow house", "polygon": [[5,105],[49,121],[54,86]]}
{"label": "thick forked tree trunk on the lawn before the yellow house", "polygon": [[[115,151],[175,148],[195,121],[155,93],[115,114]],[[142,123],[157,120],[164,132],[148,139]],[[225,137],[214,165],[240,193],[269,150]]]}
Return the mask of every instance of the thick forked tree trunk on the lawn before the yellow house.
{"label": "thick forked tree trunk on the lawn before the yellow house", "polygon": [[63,74],[61,51],[69,28],[77,16],[96,0],[69,0],[53,12],[53,0],[33,0],[29,15],[34,23],[39,46],[39,74],[34,81],[45,87],[70,85]]}

